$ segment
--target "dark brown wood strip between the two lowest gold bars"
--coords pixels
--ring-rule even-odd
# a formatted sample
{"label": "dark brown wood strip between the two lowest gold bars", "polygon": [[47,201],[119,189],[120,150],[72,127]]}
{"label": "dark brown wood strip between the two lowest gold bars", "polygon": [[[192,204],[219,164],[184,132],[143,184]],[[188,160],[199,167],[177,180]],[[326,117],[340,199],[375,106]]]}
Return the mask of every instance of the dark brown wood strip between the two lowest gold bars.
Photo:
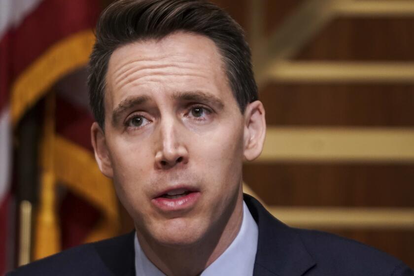
{"label": "dark brown wood strip between the two lowest gold bars", "polygon": [[269,206],[414,206],[413,165],[249,163],[243,179]]}

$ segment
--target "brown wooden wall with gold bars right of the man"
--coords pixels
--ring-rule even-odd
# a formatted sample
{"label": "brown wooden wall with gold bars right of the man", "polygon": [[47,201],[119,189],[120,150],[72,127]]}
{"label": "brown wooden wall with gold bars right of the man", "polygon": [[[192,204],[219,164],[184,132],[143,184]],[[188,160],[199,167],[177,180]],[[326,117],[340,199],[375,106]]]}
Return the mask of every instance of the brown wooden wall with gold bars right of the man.
{"label": "brown wooden wall with gold bars right of the man", "polygon": [[214,2],[247,32],[274,133],[245,183],[287,223],[414,267],[414,1]]}

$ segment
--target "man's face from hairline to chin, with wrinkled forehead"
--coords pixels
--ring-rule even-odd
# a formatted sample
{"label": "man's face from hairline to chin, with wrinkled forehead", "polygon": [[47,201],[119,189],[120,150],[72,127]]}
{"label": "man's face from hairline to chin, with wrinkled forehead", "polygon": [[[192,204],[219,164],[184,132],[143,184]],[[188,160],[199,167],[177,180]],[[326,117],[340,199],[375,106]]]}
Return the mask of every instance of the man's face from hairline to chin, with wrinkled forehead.
{"label": "man's face from hairline to chin, with wrinkled forehead", "polygon": [[107,71],[102,144],[138,232],[194,244],[242,198],[245,118],[218,50],[175,33],[118,48]]}

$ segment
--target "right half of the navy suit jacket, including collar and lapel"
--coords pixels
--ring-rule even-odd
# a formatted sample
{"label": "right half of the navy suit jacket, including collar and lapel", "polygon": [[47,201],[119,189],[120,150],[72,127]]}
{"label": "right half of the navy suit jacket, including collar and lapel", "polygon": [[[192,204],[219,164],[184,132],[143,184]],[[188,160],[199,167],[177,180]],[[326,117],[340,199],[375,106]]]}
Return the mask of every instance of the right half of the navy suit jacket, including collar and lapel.
{"label": "right half of the navy suit jacket, including collar and lapel", "polygon": [[288,227],[254,198],[244,195],[244,202],[259,226],[255,276],[414,276],[403,262],[375,248]]}

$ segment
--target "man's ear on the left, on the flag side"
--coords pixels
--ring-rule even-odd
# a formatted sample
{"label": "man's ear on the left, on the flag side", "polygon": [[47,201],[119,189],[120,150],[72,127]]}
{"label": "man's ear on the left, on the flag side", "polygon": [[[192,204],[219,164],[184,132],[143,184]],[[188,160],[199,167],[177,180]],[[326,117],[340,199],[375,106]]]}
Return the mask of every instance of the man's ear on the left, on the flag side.
{"label": "man's ear on the left, on the flag side", "polygon": [[108,147],[106,145],[105,134],[97,122],[94,122],[91,127],[91,140],[99,169],[106,177],[112,178],[112,162],[109,156]]}

